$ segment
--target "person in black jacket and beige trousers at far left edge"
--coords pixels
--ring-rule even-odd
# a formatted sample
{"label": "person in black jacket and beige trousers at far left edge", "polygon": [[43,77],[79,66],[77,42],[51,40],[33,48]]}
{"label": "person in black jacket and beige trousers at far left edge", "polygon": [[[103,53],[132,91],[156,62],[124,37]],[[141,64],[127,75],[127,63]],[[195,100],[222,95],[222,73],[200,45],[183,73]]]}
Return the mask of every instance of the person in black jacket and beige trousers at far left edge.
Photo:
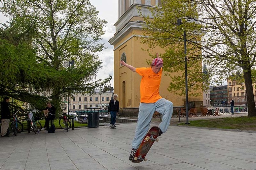
{"label": "person in black jacket and beige trousers at far left edge", "polygon": [[4,100],[1,102],[1,121],[2,121],[1,136],[2,137],[7,137],[10,134],[10,132],[8,131],[9,123],[11,119],[9,101],[10,101],[9,97],[4,97]]}

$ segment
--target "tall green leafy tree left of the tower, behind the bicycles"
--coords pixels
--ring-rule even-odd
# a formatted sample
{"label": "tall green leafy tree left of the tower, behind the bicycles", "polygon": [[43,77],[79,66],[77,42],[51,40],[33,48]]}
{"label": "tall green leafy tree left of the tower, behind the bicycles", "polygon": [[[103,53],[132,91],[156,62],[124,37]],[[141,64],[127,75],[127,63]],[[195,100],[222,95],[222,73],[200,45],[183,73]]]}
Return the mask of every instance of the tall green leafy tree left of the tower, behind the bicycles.
{"label": "tall green leafy tree left of the tower, behind the bicycles", "polygon": [[[99,41],[107,22],[97,17],[98,12],[89,0],[1,0],[1,3],[1,11],[9,16],[11,24],[16,24],[18,33],[24,30],[33,33],[29,37],[30,48],[34,50],[31,60],[37,67],[33,65],[36,68],[28,70],[32,73],[43,68],[38,74],[32,73],[42,81],[30,80],[23,89],[39,96],[44,92],[43,96],[51,99],[59,110],[67,92],[89,93],[112,78],[94,80],[101,68],[96,53],[104,48]],[[19,54],[15,58],[22,60]],[[71,60],[75,61],[74,67],[63,67]]]}

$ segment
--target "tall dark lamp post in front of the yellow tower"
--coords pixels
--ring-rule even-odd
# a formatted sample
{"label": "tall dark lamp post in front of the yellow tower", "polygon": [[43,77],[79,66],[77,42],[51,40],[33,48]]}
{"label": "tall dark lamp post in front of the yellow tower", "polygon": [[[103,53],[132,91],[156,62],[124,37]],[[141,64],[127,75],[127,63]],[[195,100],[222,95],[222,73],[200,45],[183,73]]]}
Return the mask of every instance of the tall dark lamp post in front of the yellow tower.
{"label": "tall dark lamp post in front of the yellow tower", "polygon": [[[177,25],[181,25],[181,19],[177,19]],[[184,29],[184,54],[185,54],[185,84],[186,84],[186,123],[188,122],[188,73],[187,73],[187,44],[186,44],[186,30]]]}

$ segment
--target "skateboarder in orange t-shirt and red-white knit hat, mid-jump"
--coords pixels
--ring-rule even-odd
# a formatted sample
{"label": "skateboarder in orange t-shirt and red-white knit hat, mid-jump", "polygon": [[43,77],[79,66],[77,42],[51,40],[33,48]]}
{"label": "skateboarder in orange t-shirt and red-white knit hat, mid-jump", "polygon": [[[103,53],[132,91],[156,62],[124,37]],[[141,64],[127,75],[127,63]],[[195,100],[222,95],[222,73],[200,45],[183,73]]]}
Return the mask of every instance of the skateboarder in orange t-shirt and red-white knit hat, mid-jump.
{"label": "skateboarder in orange t-shirt and red-white knit hat, mid-jump", "polygon": [[171,101],[166,100],[159,95],[163,59],[159,58],[158,54],[157,58],[152,61],[151,67],[149,68],[135,68],[126,64],[124,61],[120,61],[120,64],[142,76],[140,81],[138,121],[131,145],[132,150],[129,156],[129,160],[132,160],[132,157],[138,149],[143,137],[149,130],[150,121],[155,111],[161,113],[163,116],[162,122],[159,125],[159,136],[166,132],[170,124],[173,104]]}

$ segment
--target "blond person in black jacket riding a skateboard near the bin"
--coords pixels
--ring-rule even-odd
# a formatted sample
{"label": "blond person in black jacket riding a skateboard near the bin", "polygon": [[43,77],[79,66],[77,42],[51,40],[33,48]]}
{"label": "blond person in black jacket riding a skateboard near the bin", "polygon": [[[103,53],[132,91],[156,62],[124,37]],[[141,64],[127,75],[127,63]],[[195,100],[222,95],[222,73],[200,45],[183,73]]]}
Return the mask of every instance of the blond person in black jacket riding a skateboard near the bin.
{"label": "blond person in black jacket riding a skateboard near the bin", "polygon": [[109,127],[114,127],[116,123],[116,116],[119,111],[119,101],[117,100],[117,97],[118,95],[114,94],[114,99],[111,99],[108,105],[108,112],[110,112],[111,115]]}

